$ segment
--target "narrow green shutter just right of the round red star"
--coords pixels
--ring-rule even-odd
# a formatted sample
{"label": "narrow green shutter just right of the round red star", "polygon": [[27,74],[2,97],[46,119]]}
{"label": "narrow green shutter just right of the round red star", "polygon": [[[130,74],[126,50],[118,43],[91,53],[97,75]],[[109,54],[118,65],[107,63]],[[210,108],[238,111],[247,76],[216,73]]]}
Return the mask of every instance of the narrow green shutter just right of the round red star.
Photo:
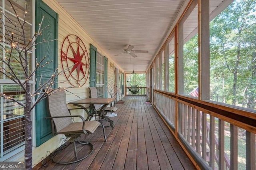
{"label": "narrow green shutter just right of the round red star", "polygon": [[90,87],[96,87],[96,52],[97,48],[90,44]]}

